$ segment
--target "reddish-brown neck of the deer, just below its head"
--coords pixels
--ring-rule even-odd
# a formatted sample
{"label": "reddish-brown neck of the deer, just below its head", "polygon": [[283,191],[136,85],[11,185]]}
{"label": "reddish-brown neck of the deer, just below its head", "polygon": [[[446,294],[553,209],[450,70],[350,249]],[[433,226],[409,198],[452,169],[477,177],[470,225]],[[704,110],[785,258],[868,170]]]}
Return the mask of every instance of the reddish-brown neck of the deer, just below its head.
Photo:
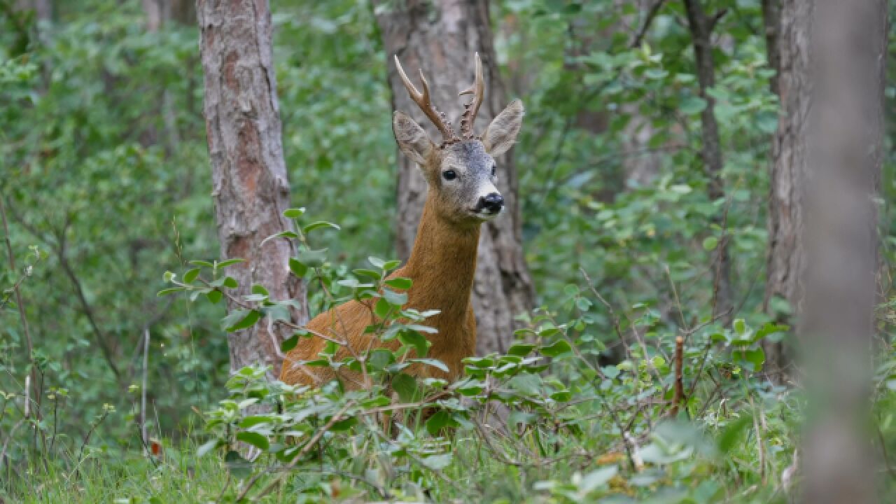
{"label": "reddish-brown neck of the deer, just below its head", "polygon": [[410,252],[405,276],[414,281],[411,303],[416,308],[441,309],[443,314],[466,312],[476,274],[480,224],[459,226],[438,215],[432,195]]}

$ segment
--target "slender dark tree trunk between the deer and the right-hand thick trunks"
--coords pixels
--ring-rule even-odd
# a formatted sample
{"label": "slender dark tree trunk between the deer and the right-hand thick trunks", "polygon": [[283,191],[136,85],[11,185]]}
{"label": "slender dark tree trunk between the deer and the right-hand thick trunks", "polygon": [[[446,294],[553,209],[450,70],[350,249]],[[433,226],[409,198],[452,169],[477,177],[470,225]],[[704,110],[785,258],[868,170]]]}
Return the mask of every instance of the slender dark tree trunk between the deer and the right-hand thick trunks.
{"label": "slender dark tree trunk between the deer and the right-hand thick trunks", "polygon": [[[715,99],[707,90],[716,84],[715,62],[712,57],[712,29],[718,21],[719,13],[712,18],[703,11],[701,0],[685,0],[687,22],[694,40],[694,57],[697,62],[697,81],[700,83],[700,97],[706,100],[700,120],[702,126],[703,147],[701,151],[703,167],[710,177],[709,196],[711,201],[719,201],[725,197],[725,184],[722,180],[722,150],[719,141],[719,123],[715,115]],[[712,256],[712,293],[713,317],[721,317],[725,326],[731,323],[734,315],[734,300],[731,291],[731,259],[728,256],[728,239],[724,234],[725,210],[713,218],[712,223],[723,230],[722,239],[716,246]]]}

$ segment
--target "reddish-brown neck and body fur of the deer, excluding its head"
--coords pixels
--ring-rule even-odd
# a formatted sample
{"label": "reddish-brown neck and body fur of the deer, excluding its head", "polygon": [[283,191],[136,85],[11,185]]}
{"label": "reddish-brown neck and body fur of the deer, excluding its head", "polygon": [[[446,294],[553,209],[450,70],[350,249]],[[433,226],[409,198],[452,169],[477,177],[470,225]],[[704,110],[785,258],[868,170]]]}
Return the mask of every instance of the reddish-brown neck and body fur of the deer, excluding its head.
{"label": "reddish-brown neck and body fur of the deer, excluding its head", "polygon": [[[432,343],[427,356],[443,361],[450,371],[445,373],[432,366],[414,364],[406,372],[418,377],[453,380],[461,376],[463,358],[470,357],[476,350],[476,318],[470,304],[470,291],[476,271],[480,224],[448,222],[439,217],[439,211],[435,209],[437,197],[433,193],[434,189],[430,188],[408,264],[390,277],[402,276],[413,281],[406,308],[441,310],[425,322],[438,329],[438,333],[427,335]],[[373,323],[375,318],[370,308],[353,300],[314,317],[307,327],[313,334],[347,341],[358,354],[371,345],[397,349],[399,343],[396,341],[383,345],[378,340],[372,341],[374,335],[364,333],[364,328]],[[331,368],[309,368],[297,363],[318,359],[317,354],[326,343],[317,336],[300,342],[287,355],[280,379],[289,384],[317,386],[335,378]],[[341,348],[337,359],[349,355],[348,349]],[[340,378],[349,388],[365,386],[362,377],[356,373],[341,371]]]}

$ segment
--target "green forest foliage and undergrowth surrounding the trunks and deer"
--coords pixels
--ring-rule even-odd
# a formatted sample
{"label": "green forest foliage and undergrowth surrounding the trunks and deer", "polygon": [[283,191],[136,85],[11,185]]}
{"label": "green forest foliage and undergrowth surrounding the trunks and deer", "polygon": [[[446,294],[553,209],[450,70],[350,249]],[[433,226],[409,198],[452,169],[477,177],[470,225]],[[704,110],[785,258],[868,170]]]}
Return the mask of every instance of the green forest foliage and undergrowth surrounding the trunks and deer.
{"label": "green forest foliage and undergrowth surrounding the trunks and deer", "polygon": [[[311,285],[315,313],[365,299],[380,317],[371,330],[400,341],[345,360],[333,343],[314,362],[362,372],[362,391],[287,387],[256,368],[228,377],[228,330],[289,324],[289,301],[258,285],[232,299],[241,306],[231,313],[220,303],[235,285],[228,262],[215,261],[194,23],[151,32],[136,0],[56,2],[43,22],[12,4],[0,0],[0,102],[12,104],[0,108],[12,248],[0,254],[0,500],[792,493],[803,397],[764,381],[758,344],[792,343],[774,323],[788,307],[762,296],[777,98],[759,0],[704,2],[725,11],[711,90],[725,157],[719,201],[707,196],[706,103],[681,3],[666,2],[647,26],[634,2],[492,2],[504,82],[529,111],[514,155],[542,308],[519,314],[507,354],[470,359],[455,384],[404,372],[426,359],[431,314],[401,309],[407,282],[384,281],[396,262],[367,259],[393,255],[397,154],[372,8],[272,3],[294,203],[340,228],[294,209],[296,236],[274,239],[298,240],[291,267]],[[893,474],[896,178],[886,143],[871,438]],[[709,224],[719,213],[724,225]],[[731,327],[711,318],[710,253],[723,240],[734,259]],[[165,289],[177,295],[156,296]],[[292,329],[284,351],[305,336]]]}

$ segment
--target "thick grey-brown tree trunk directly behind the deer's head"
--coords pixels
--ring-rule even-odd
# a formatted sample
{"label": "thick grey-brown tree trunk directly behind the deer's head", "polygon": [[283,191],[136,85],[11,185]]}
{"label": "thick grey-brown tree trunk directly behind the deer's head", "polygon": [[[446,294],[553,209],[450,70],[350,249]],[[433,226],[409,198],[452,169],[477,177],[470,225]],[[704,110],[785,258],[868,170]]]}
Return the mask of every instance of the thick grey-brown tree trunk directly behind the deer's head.
{"label": "thick grey-brown tree trunk directly behind the deer's head", "polygon": [[[419,67],[431,84],[434,102],[452,124],[461,112],[457,93],[473,82],[473,53],[482,57],[486,100],[478,114],[477,131],[487,126],[508,100],[495,61],[487,2],[444,0],[375,1],[376,19],[389,56],[392,107],[417,117],[433,138],[435,127],[422,120],[417,105],[401,83],[392,55],[401,58],[409,72]],[[401,258],[410,254],[426,199],[426,181],[420,169],[399,158],[398,226],[396,248]],[[506,215],[483,225],[479,240],[473,308],[478,326],[477,352],[504,352],[513,338],[513,317],[532,308],[535,292],[521,247],[521,217],[517,177],[512,154],[498,160],[498,189],[504,195]]]}

